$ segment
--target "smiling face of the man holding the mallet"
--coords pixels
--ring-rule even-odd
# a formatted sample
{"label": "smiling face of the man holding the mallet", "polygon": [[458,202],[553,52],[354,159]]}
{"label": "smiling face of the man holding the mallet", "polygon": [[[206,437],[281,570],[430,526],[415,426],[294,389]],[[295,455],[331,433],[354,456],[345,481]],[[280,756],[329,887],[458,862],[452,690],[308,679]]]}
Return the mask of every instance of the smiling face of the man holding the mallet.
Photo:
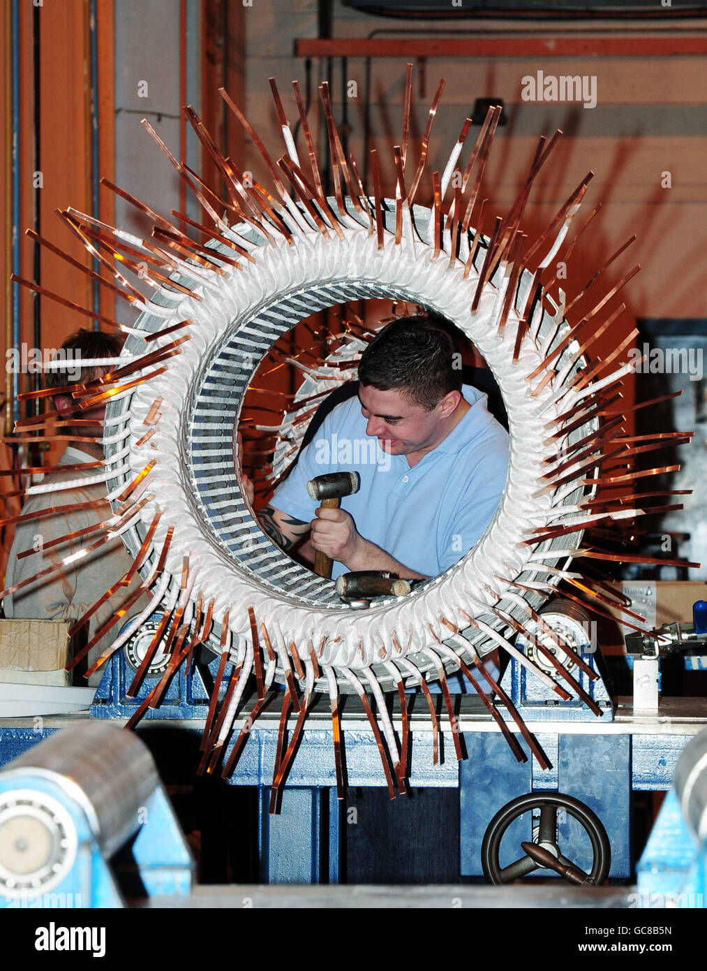
{"label": "smiling face of the man holding the mallet", "polygon": [[384,452],[408,455],[433,449],[443,437],[441,403],[428,412],[410,404],[401,391],[379,391],[370,385],[360,385],[359,401],[368,421],[366,434],[374,435]]}

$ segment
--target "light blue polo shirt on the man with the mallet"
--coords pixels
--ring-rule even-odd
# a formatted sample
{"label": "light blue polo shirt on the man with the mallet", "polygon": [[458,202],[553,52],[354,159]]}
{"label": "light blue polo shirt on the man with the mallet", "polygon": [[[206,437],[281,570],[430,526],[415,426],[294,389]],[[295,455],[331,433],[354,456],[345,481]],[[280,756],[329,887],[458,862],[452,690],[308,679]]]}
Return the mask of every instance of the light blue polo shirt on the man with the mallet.
{"label": "light blue polo shirt on the man with the mallet", "polygon": [[[361,536],[409,569],[437,576],[481,538],[498,507],[508,464],[508,433],[487,410],[486,395],[471,385],[462,390],[471,406],[465,417],[412,467],[366,434],[358,398],[343,402],[324,419],[271,504],[309,522],[320,502],[309,498],[307,481],[356,471],[361,488],[341,500],[341,509]],[[346,572],[335,561],[333,577]]]}

